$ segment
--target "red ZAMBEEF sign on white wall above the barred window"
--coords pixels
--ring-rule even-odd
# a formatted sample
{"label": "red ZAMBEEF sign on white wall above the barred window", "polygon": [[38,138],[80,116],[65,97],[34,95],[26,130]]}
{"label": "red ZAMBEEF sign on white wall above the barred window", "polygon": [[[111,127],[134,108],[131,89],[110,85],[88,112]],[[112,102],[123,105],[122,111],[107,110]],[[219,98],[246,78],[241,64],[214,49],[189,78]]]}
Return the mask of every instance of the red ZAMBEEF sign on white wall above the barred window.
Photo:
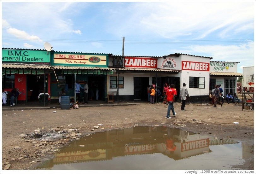
{"label": "red ZAMBEEF sign on white wall above the barred window", "polygon": [[181,69],[190,71],[210,71],[210,63],[181,61]]}

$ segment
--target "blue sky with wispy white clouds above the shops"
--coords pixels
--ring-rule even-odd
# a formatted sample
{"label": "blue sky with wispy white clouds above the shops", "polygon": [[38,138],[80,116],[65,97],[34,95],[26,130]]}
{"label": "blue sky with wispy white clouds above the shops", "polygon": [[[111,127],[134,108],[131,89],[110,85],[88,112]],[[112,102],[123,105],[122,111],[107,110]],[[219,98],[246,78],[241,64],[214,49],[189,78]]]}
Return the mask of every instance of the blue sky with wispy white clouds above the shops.
{"label": "blue sky with wispy white clouds above the shops", "polygon": [[255,1],[1,1],[1,48],[255,65]]}

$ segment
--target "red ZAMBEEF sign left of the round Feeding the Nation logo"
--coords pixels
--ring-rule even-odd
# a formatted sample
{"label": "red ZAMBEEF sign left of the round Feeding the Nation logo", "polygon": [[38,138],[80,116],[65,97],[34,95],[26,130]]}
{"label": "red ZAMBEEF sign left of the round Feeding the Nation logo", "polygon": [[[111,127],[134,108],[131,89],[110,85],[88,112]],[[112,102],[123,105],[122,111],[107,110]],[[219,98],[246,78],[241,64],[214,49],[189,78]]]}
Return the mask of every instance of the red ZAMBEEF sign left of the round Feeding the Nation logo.
{"label": "red ZAMBEEF sign left of the round Feeding the Nation logo", "polygon": [[125,57],[125,67],[156,68],[157,59]]}

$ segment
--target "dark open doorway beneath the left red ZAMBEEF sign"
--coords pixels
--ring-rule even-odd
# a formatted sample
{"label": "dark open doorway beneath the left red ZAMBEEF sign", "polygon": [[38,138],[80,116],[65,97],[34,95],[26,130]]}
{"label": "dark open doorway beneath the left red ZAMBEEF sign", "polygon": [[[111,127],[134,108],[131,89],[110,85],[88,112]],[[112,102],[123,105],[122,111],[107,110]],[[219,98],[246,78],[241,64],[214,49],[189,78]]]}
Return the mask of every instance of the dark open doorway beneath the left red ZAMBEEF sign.
{"label": "dark open doorway beneath the left red ZAMBEEF sign", "polygon": [[134,100],[148,101],[149,77],[133,78],[133,97]]}

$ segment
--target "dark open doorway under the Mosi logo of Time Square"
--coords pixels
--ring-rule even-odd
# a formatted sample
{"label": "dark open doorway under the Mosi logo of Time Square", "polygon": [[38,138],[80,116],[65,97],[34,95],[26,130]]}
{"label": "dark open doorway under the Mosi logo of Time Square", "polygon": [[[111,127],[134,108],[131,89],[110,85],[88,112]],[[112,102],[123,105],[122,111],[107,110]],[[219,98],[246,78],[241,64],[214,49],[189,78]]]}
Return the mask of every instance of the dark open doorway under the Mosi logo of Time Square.
{"label": "dark open doorway under the Mosi logo of Time Square", "polygon": [[105,76],[88,76],[88,100],[96,100],[98,90],[98,100],[105,101],[106,96],[106,77]]}

